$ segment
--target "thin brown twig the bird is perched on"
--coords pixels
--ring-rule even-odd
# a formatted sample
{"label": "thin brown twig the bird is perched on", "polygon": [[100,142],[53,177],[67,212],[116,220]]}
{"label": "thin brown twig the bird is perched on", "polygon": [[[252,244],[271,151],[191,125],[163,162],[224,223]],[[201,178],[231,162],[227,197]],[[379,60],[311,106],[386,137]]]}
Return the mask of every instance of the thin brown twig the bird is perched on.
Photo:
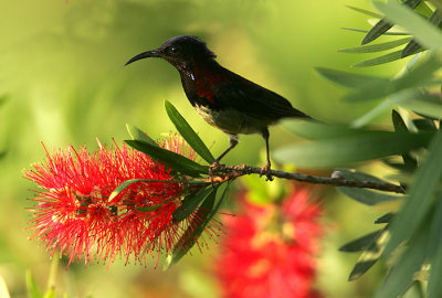
{"label": "thin brown twig the bird is perched on", "polygon": [[[261,174],[261,168],[250,167],[245,164],[220,167],[219,169],[217,169],[217,173],[224,173],[227,174],[228,179],[235,179],[244,174]],[[334,172],[330,178],[303,173],[292,173],[277,170],[271,170],[270,175],[314,184],[329,184],[335,187],[373,189],[387,192],[406,193],[406,191],[400,185],[388,182],[348,180],[341,177],[338,171]]]}

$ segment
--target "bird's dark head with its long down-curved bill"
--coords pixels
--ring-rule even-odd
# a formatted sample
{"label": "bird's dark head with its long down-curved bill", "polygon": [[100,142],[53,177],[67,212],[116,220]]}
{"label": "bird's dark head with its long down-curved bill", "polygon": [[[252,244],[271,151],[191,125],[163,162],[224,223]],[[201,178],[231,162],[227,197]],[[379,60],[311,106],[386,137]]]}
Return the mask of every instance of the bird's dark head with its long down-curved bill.
{"label": "bird's dark head with its long down-curved bill", "polygon": [[212,60],[217,55],[199,38],[181,35],[166,41],[158,49],[134,56],[125,65],[147,57],[161,57],[178,70],[186,70],[198,61]]}

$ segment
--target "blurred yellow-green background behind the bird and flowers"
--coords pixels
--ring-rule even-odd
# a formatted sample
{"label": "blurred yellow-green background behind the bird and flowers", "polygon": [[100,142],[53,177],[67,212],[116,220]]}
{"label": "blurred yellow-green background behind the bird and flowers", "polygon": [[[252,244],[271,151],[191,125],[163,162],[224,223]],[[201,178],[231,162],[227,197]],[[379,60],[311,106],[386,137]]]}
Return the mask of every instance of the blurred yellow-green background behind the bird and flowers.
{"label": "blurred yellow-green background behind the bird and flowers", "polygon": [[[32,205],[27,198],[33,196],[29,189],[34,185],[21,171],[44,159],[40,141],[50,150],[84,143],[94,150],[96,138],[104,143],[115,138],[122,143],[128,138],[127,123],[157,138],[173,129],[164,109],[168,99],[208,145],[213,143],[215,156],[228,146],[227,137],[203,123],[189,105],[172,66],[146,60],[124,67],[128,58],[171,36],[198,35],[223,66],[276,91],[306,114],[326,123],[350,123],[372,103],[341,103],[345,91],[314,71],[315,66],[345,71],[361,61],[359,55],[337,52],[358,45],[364,36],[340,28],[369,28],[365,15],[345,4],[372,9],[366,0],[2,1],[0,151],[7,155],[0,159],[0,275],[11,296],[27,297],[25,269],[44,287],[51,264],[45,248],[38,240],[29,241],[32,232],[25,230],[30,220],[25,207]],[[391,76],[401,65],[396,62],[352,71]],[[383,117],[387,121],[387,115]],[[294,141],[281,127],[272,128],[271,136],[272,148]],[[242,137],[224,161],[261,166],[256,149],[264,149],[260,136]],[[337,248],[373,230],[370,223],[382,210],[368,210],[336,196],[333,189],[322,194],[327,236],[319,260],[319,289],[325,297],[369,297],[382,277],[382,266],[348,283],[357,256]],[[193,257],[168,272],[124,266],[124,262],[108,269],[103,264],[85,268],[76,263],[64,270],[62,264],[57,294],[217,297],[217,281],[210,277],[215,252],[217,244],[203,255],[196,251]]]}

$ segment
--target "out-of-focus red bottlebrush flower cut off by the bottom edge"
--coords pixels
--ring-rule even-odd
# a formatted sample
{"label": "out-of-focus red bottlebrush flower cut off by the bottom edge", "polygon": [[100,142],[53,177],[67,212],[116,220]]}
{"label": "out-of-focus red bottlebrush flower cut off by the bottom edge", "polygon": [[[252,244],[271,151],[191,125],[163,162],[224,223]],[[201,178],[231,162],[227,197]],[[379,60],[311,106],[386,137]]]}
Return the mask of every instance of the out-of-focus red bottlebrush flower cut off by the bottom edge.
{"label": "out-of-focus red bottlebrush flower cut off by the bottom edge", "polygon": [[314,289],[320,207],[295,190],[281,205],[242,201],[224,221],[215,275],[223,297],[316,298]]}

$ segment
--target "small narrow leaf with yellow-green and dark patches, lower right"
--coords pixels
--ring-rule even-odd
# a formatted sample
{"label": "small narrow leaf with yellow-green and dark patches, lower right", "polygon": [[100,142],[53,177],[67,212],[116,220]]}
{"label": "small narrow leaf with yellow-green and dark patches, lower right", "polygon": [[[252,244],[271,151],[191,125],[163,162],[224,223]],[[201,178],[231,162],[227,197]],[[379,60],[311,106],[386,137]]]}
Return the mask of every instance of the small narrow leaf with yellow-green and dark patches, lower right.
{"label": "small narrow leaf with yellow-green and dark patches, lower right", "polygon": [[368,269],[372,267],[372,265],[376,264],[376,262],[378,262],[379,257],[382,254],[387,237],[388,225],[383,227],[378,237],[373,238],[367,249],[362,254],[360,254],[355,267],[352,268],[348,277],[349,281],[361,277]]}

